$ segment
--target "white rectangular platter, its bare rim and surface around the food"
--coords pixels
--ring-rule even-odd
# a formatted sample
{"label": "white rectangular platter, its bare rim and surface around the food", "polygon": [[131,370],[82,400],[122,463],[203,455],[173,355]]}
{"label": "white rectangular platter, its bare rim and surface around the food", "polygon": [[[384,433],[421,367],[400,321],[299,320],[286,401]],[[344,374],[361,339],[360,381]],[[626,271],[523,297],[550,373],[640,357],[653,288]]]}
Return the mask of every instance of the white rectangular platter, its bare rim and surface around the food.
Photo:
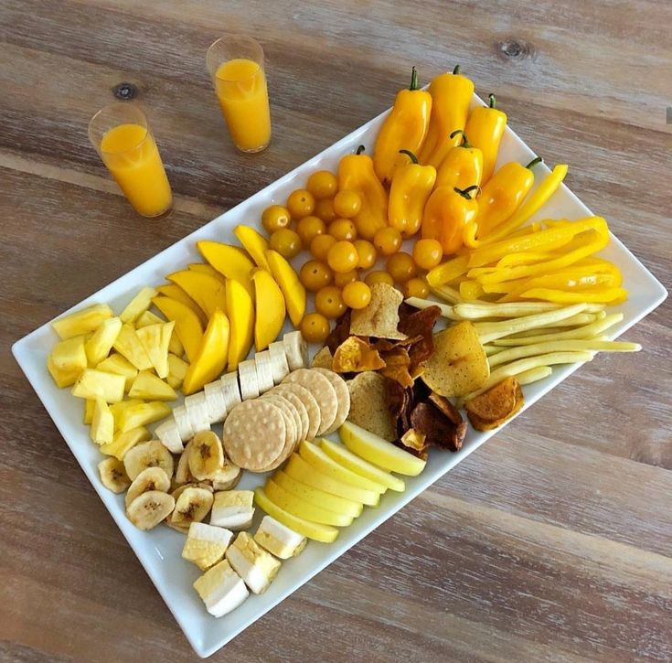
{"label": "white rectangular platter, its bare rim and surface around the food", "polygon": [[[474,97],[473,105],[481,104]],[[197,262],[201,258],[197,253],[197,240],[216,240],[235,243],[233,228],[239,223],[255,224],[261,218],[261,211],[272,203],[284,203],[289,193],[295,188],[304,187],[307,177],[318,169],[336,172],[338,160],[342,155],[354,151],[357,145],[364,144],[370,154],[379,126],[387,112],[382,113],[370,122],[359,127],[357,131],[327,148],[324,152],[298,166],[291,173],[281,177],[269,187],[237,207],[229,209],[217,219],[210,221],[196,232],[165,251],[155,255],[151,260],[136,267],[117,281],[110,283],[98,293],[73,306],[72,310],[85,305],[107,303],[115,311],[121,311],[133,294],[144,285],[164,282],[166,273],[175,271],[188,262]],[[510,128],[502,140],[498,166],[507,161],[527,163],[534,154],[528,149],[517,134]],[[541,155],[553,160],[553,155]],[[536,169],[537,182],[548,175],[546,166]],[[564,185],[554,195],[538,215],[539,219],[581,219],[591,215],[579,198],[576,198]],[[534,220],[534,219],[533,219]],[[624,286],[630,291],[630,299],[617,307],[622,311],[624,319],[618,326],[610,330],[611,337],[617,337],[628,327],[650,313],[667,296],[665,288],[656,281],[635,256],[628,251],[621,241],[615,237],[603,251],[604,257],[615,262],[624,275]],[[366,508],[354,523],[342,529],[338,539],[331,544],[311,541],[305,551],[293,560],[283,562],[283,566],[269,590],[260,596],[251,597],[233,613],[216,619],[205,610],[192,583],[198,576],[197,567],[181,558],[184,537],[173,529],[158,527],[150,532],[135,529],[126,519],[123,509],[123,495],[114,495],[101,485],[96,465],[101,454],[95,444],[91,444],[86,426],[82,424],[83,404],[80,399],[70,395],[69,390],[57,389],[46,369],[48,352],[57,340],[50,324],[43,325],[27,337],[17,341],[13,347],[16,361],[23,369],[38,397],[44,403],[47,412],[56,423],[59,432],[77,458],[82,470],[89,477],[91,485],[101,497],[105,507],[110,511],[123,536],[128,540],[138,560],[149,574],[156,589],[164,598],[165,604],[175,615],[188,641],[200,657],[208,657],[223,647],[240,631],[250,626],[261,615],[280,603],[283,598],[310,580],[327,564],[355,545],[380,523],[389,519],[400,508],[419,495],[425,488],[432,485],[454,465],[475,451],[496,431],[477,433],[470,429],[467,433],[464,448],[452,454],[434,449],[429,462],[421,474],[408,478],[404,493],[389,491],[383,496],[379,508]],[[600,358],[596,358],[599,361]],[[541,396],[553,389],[561,380],[567,378],[579,365],[556,367],[548,379],[525,387],[525,408],[537,401]],[[244,476],[240,487],[248,488],[261,484],[263,477],[259,475]],[[259,509],[257,509],[259,512]],[[257,513],[252,531],[256,528],[261,513]]]}

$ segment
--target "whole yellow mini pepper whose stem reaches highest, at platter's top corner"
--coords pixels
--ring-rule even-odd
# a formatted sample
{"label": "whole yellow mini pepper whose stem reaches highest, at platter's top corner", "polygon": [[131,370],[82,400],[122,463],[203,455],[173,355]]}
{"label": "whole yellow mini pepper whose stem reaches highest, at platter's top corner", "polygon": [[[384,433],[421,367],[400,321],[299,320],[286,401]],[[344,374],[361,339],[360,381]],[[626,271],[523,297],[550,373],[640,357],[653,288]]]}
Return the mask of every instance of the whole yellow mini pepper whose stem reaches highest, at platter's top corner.
{"label": "whole yellow mini pepper whose stem reaches highest, at platter's top corner", "polygon": [[430,94],[430,128],[419,158],[421,164],[438,168],[451,148],[459,144],[455,131],[464,129],[466,124],[469,104],[474,96],[474,83],[460,74],[460,65],[457,65],[452,74],[441,74],[432,80]]}

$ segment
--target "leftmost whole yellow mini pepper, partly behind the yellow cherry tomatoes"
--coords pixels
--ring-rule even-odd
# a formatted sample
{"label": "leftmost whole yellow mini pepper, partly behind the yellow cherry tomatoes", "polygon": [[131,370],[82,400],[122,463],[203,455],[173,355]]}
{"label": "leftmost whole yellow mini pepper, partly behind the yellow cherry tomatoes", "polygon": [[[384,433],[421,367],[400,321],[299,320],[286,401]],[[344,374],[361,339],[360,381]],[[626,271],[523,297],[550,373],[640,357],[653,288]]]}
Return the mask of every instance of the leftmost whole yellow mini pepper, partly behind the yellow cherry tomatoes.
{"label": "leftmost whole yellow mini pepper, partly behind the yellow cherry tomatoes", "polygon": [[376,230],[388,225],[388,192],[373,170],[371,157],[361,154],[363,150],[364,145],[359,145],[354,155],[341,157],[338,188],[353,189],[359,194],[362,205],[352,220],[357,233],[365,240],[372,240]]}

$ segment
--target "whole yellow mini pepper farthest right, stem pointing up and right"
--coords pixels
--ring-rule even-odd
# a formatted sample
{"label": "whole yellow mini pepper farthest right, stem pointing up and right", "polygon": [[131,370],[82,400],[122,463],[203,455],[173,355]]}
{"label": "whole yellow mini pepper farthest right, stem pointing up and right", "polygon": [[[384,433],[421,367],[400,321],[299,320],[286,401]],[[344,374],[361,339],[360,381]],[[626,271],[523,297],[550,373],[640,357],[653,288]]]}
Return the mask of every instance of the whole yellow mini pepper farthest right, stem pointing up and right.
{"label": "whole yellow mini pepper farthest right, stem pointing up and right", "polygon": [[540,162],[540,156],[530,161],[527,166],[509,161],[490,178],[478,197],[476,237],[487,236],[511,218],[532,188],[532,168]]}

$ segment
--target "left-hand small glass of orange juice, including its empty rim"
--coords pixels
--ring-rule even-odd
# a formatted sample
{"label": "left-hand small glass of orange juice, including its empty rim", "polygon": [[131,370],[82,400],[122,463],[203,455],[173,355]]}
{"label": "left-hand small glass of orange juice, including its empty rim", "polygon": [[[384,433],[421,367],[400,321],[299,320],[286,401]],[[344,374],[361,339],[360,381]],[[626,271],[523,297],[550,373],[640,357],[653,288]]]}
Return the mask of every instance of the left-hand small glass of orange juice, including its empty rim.
{"label": "left-hand small glass of orange juice, including its empty rim", "polygon": [[161,155],[137,106],[119,102],[97,112],[89,123],[89,139],[138,214],[158,217],[172,207]]}

